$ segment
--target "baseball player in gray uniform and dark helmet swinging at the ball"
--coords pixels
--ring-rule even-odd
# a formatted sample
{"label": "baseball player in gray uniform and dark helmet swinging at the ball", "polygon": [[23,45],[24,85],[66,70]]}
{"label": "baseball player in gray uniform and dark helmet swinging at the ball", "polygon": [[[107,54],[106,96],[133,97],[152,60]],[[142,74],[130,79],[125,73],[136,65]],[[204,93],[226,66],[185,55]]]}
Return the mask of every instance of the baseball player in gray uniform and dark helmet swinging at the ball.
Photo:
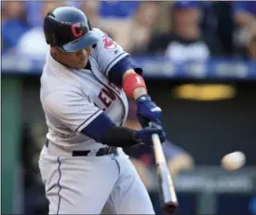
{"label": "baseball player in gray uniform and dark helmet swinging at the ball", "polygon": [[[44,32],[50,51],[40,99],[48,132],[39,168],[49,214],[155,214],[122,150],[151,145],[154,133],[166,139],[161,109],[147,94],[141,68],[75,7],[51,10]],[[138,105],[141,130],[123,127],[127,98]]]}

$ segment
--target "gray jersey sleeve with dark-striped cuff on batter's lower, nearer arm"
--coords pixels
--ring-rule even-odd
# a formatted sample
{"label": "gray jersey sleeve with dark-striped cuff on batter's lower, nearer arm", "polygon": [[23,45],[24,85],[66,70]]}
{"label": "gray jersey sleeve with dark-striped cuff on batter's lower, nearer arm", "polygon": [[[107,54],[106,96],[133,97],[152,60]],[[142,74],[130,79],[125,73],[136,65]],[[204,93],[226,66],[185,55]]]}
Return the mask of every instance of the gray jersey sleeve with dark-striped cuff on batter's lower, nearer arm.
{"label": "gray jersey sleeve with dark-striped cuff on batter's lower, nearer arm", "polygon": [[81,132],[102,113],[87,97],[74,92],[52,92],[45,98],[43,107],[47,114],[74,132]]}

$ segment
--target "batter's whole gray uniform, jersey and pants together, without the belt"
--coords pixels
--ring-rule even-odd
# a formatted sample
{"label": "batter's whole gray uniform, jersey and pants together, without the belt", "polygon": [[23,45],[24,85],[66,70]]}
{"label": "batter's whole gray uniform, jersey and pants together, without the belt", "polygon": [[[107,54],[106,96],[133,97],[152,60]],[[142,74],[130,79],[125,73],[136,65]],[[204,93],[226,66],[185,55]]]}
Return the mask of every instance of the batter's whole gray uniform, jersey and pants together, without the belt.
{"label": "batter's whole gray uniform, jersey and pants together, without the belt", "polygon": [[[150,197],[136,169],[121,148],[117,154],[95,156],[105,147],[80,131],[106,113],[124,124],[128,101],[107,75],[128,56],[99,29],[101,41],[89,55],[91,69],[61,65],[50,54],[41,76],[40,99],[47,119],[47,140],[39,168],[49,200],[49,214],[154,214]],[[90,150],[73,156],[74,150]]]}

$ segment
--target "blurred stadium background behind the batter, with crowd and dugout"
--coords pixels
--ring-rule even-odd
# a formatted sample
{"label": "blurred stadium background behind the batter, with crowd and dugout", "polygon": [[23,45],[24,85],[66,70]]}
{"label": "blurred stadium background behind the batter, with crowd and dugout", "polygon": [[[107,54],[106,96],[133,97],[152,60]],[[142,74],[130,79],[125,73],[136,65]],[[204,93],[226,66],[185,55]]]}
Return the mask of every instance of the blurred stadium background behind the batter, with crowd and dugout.
{"label": "blurred stadium background behind the batter, with crowd and dugout", "polygon": [[[177,214],[256,214],[256,2],[2,1],[2,214],[47,214],[38,155],[47,11],[81,8],[144,69],[163,109]],[[139,128],[130,101],[126,126]],[[162,214],[152,150],[126,149]],[[241,151],[246,164],[223,168]]]}

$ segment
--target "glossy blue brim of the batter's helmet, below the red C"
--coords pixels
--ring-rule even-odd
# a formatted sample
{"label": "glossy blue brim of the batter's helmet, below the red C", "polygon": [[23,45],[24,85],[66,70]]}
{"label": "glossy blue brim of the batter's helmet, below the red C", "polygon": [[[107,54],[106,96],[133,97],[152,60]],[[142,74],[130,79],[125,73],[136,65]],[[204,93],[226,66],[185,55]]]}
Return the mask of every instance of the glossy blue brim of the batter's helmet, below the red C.
{"label": "glossy blue brim of the batter's helmet, below the red C", "polygon": [[64,52],[76,52],[97,44],[101,40],[101,35],[95,32],[88,32],[84,36],[60,47]]}

